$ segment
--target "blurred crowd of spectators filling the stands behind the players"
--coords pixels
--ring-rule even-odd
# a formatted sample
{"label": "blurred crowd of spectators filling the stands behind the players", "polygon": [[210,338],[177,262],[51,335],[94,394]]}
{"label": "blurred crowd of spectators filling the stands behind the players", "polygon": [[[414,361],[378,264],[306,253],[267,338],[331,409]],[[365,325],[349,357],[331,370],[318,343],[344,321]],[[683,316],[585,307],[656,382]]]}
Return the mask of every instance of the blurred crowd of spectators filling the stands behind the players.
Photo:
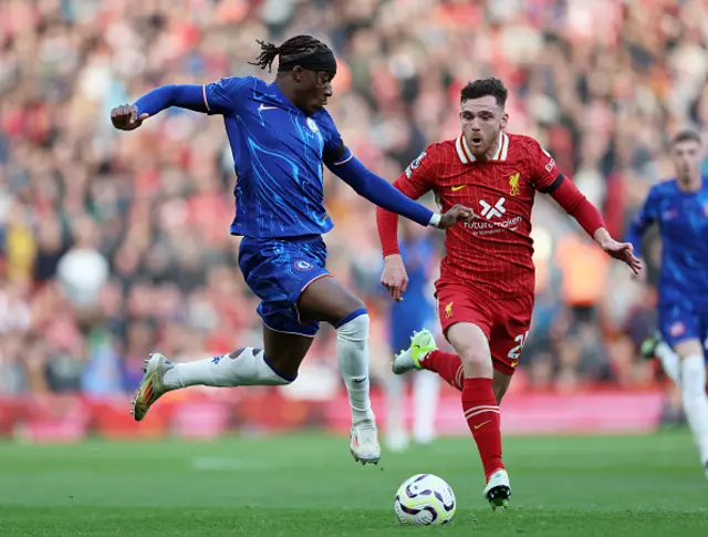
{"label": "blurred crowd of spectators filling the stands behind the players", "polygon": [[[113,106],[163,84],[270,80],[247,63],[256,39],[313,34],[340,62],[329,110],[345,143],[393,180],[458,134],[460,87],[493,75],[510,90],[509,131],[537,137],[620,238],[673,174],[670,136],[706,131],[707,13],[701,0],[2,0],[0,393],[127,392],[149,351],[192,360],[260,343],[228,233],[222,122],[170,110],[122,133]],[[330,269],[366,300],[373,360],[387,361],[374,208],[331,175],[325,194]],[[518,382],[656,382],[638,345],[655,328],[660,245],[647,241],[635,281],[537,199]],[[324,328],[308,361],[335,369],[333,349]]]}

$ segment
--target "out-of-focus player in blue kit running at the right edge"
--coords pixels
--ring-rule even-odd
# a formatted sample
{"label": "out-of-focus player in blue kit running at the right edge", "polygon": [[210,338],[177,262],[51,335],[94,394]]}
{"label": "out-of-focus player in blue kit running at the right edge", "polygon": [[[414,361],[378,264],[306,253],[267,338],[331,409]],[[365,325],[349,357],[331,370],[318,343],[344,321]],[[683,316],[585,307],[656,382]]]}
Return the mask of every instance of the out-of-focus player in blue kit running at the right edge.
{"label": "out-of-focus player in blue kit running at the right edge", "polygon": [[659,226],[662,272],[658,282],[660,337],[643,344],[681,389],[684,410],[708,476],[708,178],[700,174],[700,136],[679,133],[671,157],[677,176],[654,185],[632,224],[636,252],[649,225]]}

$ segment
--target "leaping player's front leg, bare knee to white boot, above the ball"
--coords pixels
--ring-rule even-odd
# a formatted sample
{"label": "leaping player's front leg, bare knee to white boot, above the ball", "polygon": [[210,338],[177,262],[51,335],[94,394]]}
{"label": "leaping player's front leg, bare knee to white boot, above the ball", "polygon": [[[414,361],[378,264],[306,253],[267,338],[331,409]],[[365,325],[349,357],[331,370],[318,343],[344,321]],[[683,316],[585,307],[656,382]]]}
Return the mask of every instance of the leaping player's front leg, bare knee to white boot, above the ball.
{"label": "leaping player's front leg, bare knee to white boot, above the ball", "polygon": [[334,278],[320,278],[304,290],[298,310],[304,320],[326,321],[336,329],[336,355],[352,407],[351,452],[362,464],[377,464],[381,447],[369,399],[366,307]]}

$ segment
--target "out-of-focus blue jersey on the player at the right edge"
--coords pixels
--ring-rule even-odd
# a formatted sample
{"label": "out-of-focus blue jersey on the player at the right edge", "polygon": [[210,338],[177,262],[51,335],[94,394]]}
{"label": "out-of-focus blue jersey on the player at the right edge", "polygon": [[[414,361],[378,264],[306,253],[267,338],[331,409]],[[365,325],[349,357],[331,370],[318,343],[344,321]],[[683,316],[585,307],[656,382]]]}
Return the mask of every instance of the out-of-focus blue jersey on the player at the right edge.
{"label": "out-of-focus blue jersey on the player at the right edge", "polygon": [[642,234],[657,223],[662,237],[659,296],[708,307],[708,180],[685,193],[676,179],[654,185],[632,224],[629,240],[641,251]]}

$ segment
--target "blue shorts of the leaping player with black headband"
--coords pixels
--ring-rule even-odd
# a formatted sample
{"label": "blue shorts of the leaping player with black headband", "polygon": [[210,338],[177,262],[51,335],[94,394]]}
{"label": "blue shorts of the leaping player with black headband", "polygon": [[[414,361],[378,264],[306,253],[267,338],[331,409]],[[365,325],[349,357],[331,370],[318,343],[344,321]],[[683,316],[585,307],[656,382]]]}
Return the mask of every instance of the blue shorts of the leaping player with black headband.
{"label": "blue shorts of the leaping player with black headband", "polygon": [[330,276],[324,268],[327,249],[322,237],[270,239],[243,237],[239,267],[261,303],[258,314],[278,332],[314,338],[316,321],[301,322],[298,300],[314,280]]}

